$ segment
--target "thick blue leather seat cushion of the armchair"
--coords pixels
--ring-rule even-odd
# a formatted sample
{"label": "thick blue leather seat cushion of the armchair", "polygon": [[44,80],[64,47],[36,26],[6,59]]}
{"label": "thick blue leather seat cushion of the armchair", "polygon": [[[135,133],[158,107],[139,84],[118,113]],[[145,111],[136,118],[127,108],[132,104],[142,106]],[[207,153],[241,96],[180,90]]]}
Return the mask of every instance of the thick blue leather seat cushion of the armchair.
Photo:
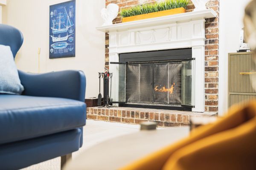
{"label": "thick blue leather seat cushion of the armchair", "polygon": [[0,95],[0,144],[82,127],[84,102],[54,97]]}

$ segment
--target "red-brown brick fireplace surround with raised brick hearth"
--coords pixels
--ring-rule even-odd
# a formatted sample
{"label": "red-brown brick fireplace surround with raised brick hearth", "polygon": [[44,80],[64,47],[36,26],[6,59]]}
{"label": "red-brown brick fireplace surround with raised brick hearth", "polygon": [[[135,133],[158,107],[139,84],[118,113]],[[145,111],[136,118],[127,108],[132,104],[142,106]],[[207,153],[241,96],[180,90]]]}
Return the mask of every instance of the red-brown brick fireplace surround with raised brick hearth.
{"label": "red-brown brick fireplace surround with raised brick hearth", "polygon": [[[123,8],[129,8],[131,6],[136,6],[144,3],[152,3],[158,0],[106,0],[106,6],[109,3],[116,3],[119,6],[119,10],[122,10]],[[195,6],[192,4],[192,2],[189,2],[189,5],[186,8],[187,12],[193,11]],[[212,8],[214,11],[219,13],[219,0],[209,0],[207,3],[207,8]],[[122,17],[118,16],[115,20],[113,20],[113,24],[121,23]],[[219,18],[218,16],[216,18],[209,18],[206,19],[205,22],[205,112],[218,112],[218,27],[219,27]],[[109,54],[108,54],[108,47],[109,47],[109,36],[106,33],[105,34],[105,66],[108,68],[109,65]],[[161,121],[163,123],[158,123],[160,126],[173,126],[173,125],[183,125],[188,124],[188,114],[185,112],[175,112],[175,114],[172,114],[171,112],[166,111],[159,111],[153,114],[155,111],[136,111],[134,109],[126,109],[126,111],[122,111],[124,108],[118,108],[116,110],[108,110],[108,109],[97,109],[97,108],[88,108],[87,109],[87,117],[89,119],[99,119],[104,121],[113,121],[113,122],[124,122],[124,123],[140,123],[140,121],[134,121],[129,120],[131,118],[140,119],[140,112],[144,113],[143,119],[149,119],[149,120],[155,120],[157,121],[162,116]],[[102,113],[100,113],[100,111]],[[123,114],[122,116],[122,112]],[[152,113],[150,113],[152,112]],[[112,114],[113,113],[113,114]],[[119,114],[118,114],[119,113]],[[134,117],[131,117],[134,115]],[[137,113],[137,117],[136,117]],[[148,114],[147,117],[145,117]],[[110,118],[111,115],[116,118]],[[127,118],[128,114],[128,119]],[[154,118],[152,117],[154,115]],[[175,116],[175,121],[172,121],[172,116]],[[182,116],[183,115],[183,116]],[[207,114],[206,114],[207,115]],[[213,114],[214,115],[214,114]],[[103,116],[103,117],[102,117]],[[159,117],[158,117],[159,116]],[[167,118],[164,118],[164,117]],[[125,118],[126,117],[126,118]],[[171,117],[171,118],[170,118]],[[167,120],[166,120],[167,119]],[[174,120],[174,117],[173,117]],[[130,122],[131,121],[131,122]],[[160,121],[160,122],[161,122]],[[166,122],[166,123],[165,123]],[[167,123],[167,122],[172,122]],[[176,123],[176,124],[175,124]]]}

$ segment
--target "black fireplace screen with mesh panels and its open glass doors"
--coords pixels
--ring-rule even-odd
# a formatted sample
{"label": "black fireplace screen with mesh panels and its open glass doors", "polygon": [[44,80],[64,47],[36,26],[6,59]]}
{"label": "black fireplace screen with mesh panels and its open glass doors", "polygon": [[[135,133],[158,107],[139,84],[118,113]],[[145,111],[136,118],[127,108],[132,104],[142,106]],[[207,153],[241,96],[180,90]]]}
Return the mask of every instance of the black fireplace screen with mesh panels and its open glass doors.
{"label": "black fireplace screen with mesh panels and its open glass doors", "polygon": [[113,103],[194,105],[194,59],[111,64]]}

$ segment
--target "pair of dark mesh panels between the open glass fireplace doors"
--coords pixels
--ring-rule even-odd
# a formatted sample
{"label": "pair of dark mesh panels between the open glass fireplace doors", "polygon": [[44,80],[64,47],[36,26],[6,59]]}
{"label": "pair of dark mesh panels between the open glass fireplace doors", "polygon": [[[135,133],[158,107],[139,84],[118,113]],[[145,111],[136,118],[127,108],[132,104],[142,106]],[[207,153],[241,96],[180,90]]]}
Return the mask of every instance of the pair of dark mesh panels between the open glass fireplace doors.
{"label": "pair of dark mesh panels between the open glass fireplace doors", "polygon": [[180,62],[129,64],[127,102],[181,104]]}

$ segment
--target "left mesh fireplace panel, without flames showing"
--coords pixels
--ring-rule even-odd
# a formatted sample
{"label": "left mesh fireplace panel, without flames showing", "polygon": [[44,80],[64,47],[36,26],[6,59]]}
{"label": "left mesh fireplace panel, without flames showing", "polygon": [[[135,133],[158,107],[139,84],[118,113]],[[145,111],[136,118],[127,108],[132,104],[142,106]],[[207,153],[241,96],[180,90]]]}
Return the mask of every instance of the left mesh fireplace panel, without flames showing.
{"label": "left mesh fireplace panel, without flames showing", "polygon": [[152,103],[153,64],[128,64],[127,102]]}

